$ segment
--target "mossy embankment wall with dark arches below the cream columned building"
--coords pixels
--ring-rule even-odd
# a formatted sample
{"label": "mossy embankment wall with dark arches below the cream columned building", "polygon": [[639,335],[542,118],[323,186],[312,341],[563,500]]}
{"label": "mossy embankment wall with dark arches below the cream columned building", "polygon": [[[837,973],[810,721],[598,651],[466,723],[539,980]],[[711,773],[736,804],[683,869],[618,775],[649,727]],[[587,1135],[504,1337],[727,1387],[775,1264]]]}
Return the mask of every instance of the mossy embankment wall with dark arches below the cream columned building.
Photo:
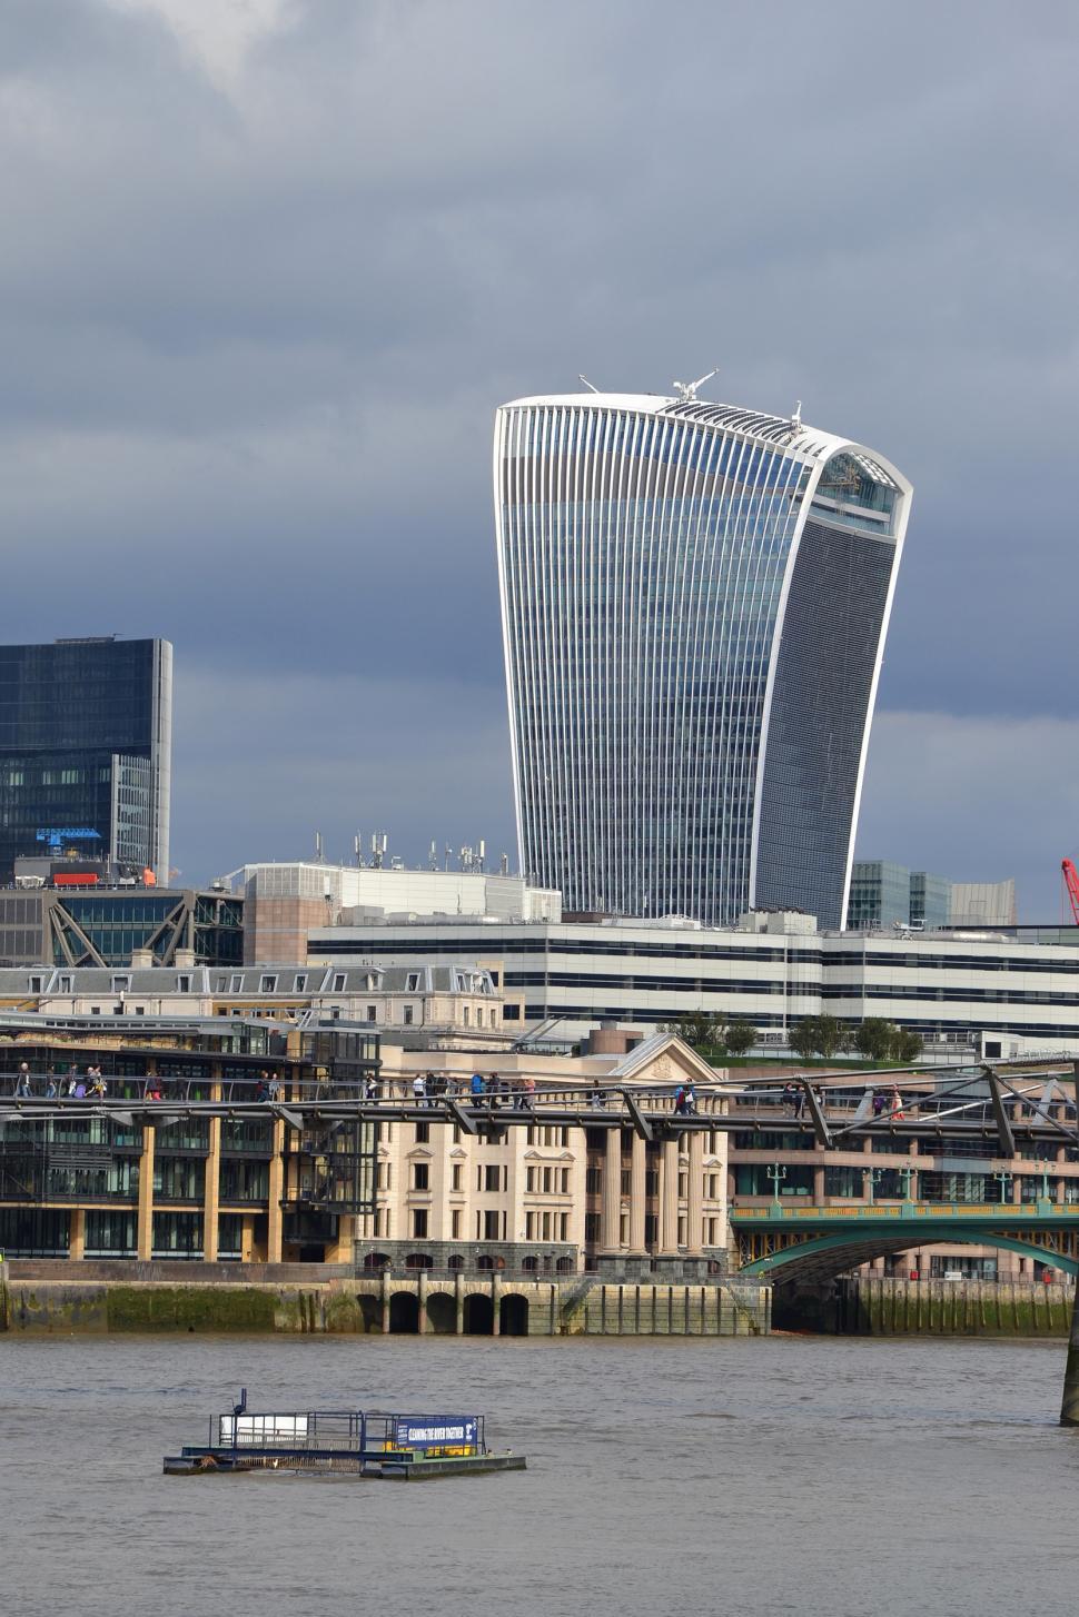
{"label": "mossy embankment wall with dark arches below the cream columned building", "polygon": [[[83,1266],[79,1264],[83,1269]],[[136,1268],[152,1273],[136,1274]],[[233,1331],[425,1336],[760,1336],[770,1290],[755,1284],[600,1284],[589,1276],[380,1274],[330,1264],[220,1266],[70,1263],[0,1266],[0,1329],[28,1334]],[[277,1273],[277,1271],[281,1273]],[[104,1273],[110,1271],[110,1273]],[[120,1273],[115,1273],[120,1271]],[[296,1273],[299,1271],[299,1273]],[[330,1271],[330,1273],[325,1273]]]}

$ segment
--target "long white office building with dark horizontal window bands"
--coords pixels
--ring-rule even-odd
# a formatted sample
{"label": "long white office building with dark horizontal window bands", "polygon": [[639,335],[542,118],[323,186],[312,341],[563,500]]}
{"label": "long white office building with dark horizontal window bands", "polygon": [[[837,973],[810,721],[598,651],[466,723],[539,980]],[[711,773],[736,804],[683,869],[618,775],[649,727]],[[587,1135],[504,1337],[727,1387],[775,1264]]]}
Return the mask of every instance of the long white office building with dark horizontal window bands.
{"label": "long white office building with dark horizontal window bands", "polygon": [[503,994],[505,1027],[556,1019],[576,1038],[597,1022],[639,1028],[718,1011],[764,1043],[828,1012],[883,1017],[929,1048],[985,1056],[1079,1054],[1079,935],[819,931],[809,915],[752,914],[738,928],[686,922],[366,925],[319,930],[312,959],[474,962]]}

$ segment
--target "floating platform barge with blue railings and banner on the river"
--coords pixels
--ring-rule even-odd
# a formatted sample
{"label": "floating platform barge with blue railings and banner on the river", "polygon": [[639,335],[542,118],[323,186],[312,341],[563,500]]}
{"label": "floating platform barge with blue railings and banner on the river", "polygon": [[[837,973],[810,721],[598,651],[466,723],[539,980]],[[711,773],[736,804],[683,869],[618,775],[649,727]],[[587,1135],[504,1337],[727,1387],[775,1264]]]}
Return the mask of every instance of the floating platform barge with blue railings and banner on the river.
{"label": "floating platform barge with blue railings and banner on the river", "polygon": [[400,1415],[390,1410],[248,1410],[212,1415],[209,1441],[165,1455],[165,1476],[309,1471],[382,1481],[432,1481],[523,1471],[523,1454],[487,1447],[482,1415]]}

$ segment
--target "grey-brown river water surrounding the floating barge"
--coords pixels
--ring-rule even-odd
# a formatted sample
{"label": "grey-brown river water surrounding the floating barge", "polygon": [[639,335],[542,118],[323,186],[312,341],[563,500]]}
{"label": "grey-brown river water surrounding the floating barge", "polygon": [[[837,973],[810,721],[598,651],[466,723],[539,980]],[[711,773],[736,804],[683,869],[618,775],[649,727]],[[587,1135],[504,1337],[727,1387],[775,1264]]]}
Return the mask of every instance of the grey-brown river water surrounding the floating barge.
{"label": "grey-brown river water surrounding the floating barge", "polygon": [[[1079,1609],[1058,1342],[0,1337],[11,1617]],[[487,1412],[529,1470],[167,1478],[252,1408]]]}

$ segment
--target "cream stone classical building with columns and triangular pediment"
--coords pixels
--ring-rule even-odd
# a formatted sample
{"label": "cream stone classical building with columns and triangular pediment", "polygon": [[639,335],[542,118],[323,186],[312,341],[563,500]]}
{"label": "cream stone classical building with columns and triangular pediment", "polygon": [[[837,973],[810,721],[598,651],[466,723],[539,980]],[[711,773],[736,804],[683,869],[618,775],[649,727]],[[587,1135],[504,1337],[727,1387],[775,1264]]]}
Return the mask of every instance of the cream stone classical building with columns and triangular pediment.
{"label": "cream stone classical building with columns and triangular pediment", "polygon": [[[383,1046],[383,1085],[408,1093],[425,1070],[421,1053]],[[448,1066],[446,1066],[448,1064]],[[495,1064],[485,1059],[482,1072]],[[466,1090],[471,1066],[440,1053],[438,1077]],[[728,1247],[728,1135],[696,1129],[644,1140],[607,1106],[607,1088],[634,1090],[649,1108],[673,1108],[696,1088],[697,1116],[725,1109],[717,1072],[673,1033],[636,1040],[599,1030],[584,1054],[506,1053],[497,1077],[510,1096],[527,1080],[539,1095],[565,1085],[589,1109],[584,1127],[535,1124],[472,1135],[456,1124],[401,1122],[377,1145],[375,1211],[358,1221],[361,1264],[523,1268],[571,1273],[717,1269]]]}

